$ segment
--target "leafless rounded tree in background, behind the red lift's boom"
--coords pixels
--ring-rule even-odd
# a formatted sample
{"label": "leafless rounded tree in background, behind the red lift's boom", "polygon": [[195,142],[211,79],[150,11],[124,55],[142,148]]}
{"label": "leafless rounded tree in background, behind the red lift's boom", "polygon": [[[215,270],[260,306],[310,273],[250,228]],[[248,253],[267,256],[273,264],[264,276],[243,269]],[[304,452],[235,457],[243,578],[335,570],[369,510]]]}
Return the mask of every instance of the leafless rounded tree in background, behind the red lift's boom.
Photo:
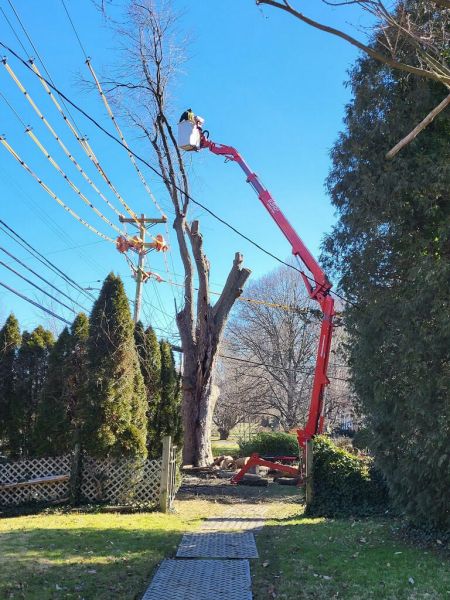
{"label": "leafless rounded tree in background, behind the red lift's boom", "polygon": [[[288,267],[260,278],[227,329],[242,395],[261,416],[289,429],[304,423],[314,373],[319,322],[299,274]],[[245,390],[245,391],[244,391]]]}

